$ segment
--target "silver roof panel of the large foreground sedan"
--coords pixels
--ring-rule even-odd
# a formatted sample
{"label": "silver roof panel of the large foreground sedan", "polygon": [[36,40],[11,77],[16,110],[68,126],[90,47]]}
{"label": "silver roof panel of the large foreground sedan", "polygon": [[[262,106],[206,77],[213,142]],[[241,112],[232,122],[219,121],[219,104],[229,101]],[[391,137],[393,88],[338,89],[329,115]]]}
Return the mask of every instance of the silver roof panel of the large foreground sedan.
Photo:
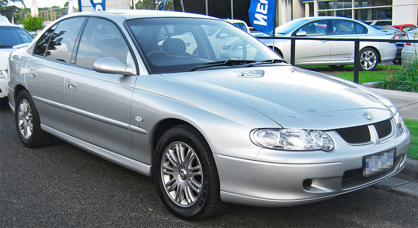
{"label": "silver roof panel of the large foreground sedan", "polygon": [[147,17],[193,17],[193,18],[208,18],[221,20],[216,17],[196,14],[196,13],[185,13],[177,11],[163,11],[163,10],[106,10],[106,11],[94,11],[94,12],[79,12],[71,14],[72,16],[120,16],[126,20],[133,18],[147,18]]}

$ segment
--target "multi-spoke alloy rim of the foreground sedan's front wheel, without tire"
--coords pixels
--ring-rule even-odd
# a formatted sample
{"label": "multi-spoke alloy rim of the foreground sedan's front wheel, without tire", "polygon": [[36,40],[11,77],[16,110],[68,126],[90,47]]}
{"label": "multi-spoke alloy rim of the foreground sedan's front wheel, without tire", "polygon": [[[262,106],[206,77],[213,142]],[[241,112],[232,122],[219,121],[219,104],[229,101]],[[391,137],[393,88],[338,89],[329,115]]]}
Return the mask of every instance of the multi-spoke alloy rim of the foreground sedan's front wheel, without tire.
{"label": "multi-spoke alloy rim of the foreground sedan's front wheel, without tire", "polygon": [[189,207],[196,203],[203,189],[202,166],[195,152],[183,142],[171,143],[161,159],[161,179],[170,199]]}

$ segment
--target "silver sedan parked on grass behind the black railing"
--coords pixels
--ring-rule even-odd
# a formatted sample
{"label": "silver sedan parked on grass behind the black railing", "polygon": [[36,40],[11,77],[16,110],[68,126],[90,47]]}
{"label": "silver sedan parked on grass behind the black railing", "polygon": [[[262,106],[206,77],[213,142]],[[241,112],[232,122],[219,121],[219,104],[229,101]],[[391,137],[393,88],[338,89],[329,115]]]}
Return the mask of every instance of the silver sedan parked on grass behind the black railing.
{"label": "silver sedan parked on grass behind the black railing", "polygon": [[[346,17],[316,16],[290,21],[275,29],[276,36],[301,36],[317,38],[370,38],[393,39],[362,22]],[[290,62],[290,40],[261,39],[270,48]],[[373,70],[380,62],[395,59],[396,45],[384,42],[360,42],[361,70]],[[352,41],[296,41],[295,65],[329,65],[341,68],[354,64]]]}

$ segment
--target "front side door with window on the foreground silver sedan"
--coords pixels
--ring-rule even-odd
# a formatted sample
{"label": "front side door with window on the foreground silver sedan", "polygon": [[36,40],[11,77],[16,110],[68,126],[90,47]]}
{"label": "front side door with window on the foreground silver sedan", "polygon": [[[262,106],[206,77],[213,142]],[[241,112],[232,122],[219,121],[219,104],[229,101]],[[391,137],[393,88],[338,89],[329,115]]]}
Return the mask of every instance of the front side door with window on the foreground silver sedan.
{"label": "front side door with window on the foreground silver sedan", "polygon": [[89,17],[79,39],[75,65],[65,79],[66,132],[132,157],[130,103],[136,75],[94,71],[94,61],[106,56],[134,64],[120,28],[104,18]]}

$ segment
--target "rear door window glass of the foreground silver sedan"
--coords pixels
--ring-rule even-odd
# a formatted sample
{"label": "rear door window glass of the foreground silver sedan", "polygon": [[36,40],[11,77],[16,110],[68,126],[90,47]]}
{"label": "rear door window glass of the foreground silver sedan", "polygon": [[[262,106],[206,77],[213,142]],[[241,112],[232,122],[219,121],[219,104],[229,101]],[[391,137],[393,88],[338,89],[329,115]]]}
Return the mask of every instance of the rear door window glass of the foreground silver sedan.
{"label": "rear door window glass of the foreground silver sedan", "polygon": [[85,17],[74,17],[59,22],[48,43],[45,57],[69,63],[77,35]]}

